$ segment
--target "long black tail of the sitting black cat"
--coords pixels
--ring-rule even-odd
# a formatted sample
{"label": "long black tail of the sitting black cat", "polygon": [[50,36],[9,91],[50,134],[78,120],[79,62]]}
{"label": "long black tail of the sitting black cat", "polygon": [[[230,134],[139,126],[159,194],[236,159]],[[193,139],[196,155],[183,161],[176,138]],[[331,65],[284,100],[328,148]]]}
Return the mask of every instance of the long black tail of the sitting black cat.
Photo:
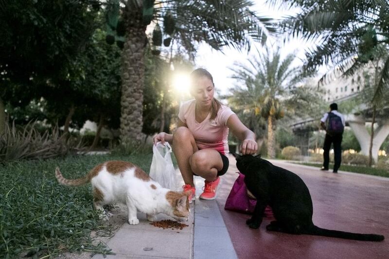
{"label": "long black tail of the sitting black cat", "polygon": [[352,240],[360,240],[360,241],[383,241],[385,239],[382,235],[376,235],[376,234],[359,234],[359,233],[351,233],[351,232],[344,232],[344,231],[338,231],[338,230],[330,230],[330,229],[324,229],[320,228],[318,226],[313,226],[311,233],[307,233],[309,235],[316,235],[316,236],[324,236],[324,237],[333,237],[333,238],[343,238],[343,239],[352,239]]}

